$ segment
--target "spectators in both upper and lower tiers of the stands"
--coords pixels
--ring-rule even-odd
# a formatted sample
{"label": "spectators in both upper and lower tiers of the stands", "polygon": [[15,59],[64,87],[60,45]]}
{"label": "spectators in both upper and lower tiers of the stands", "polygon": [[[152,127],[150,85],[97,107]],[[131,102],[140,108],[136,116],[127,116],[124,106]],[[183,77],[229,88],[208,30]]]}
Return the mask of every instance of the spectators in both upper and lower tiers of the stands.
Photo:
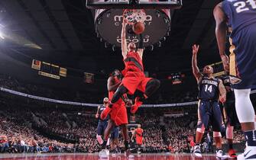
{"label": "spectators in both upper and lower tiers of the stands", "polygon": [[[52,94],[57,96],[57,92],[41,90],[35,85],[23,85],[7,75],[0,75],[0,85],[28,94],[59,98],[52,97]],[[46,92],[52,94],[44,94]],[[37,103],[33,104],[29,99],[21,103],[17,97],[9,96],[17,100],[15,104],[13,100],[2,98],[2,94],[5,93],[0,94],[0,152],[99,152],[96,107],[89,111],[82,107],[67,109],[65,106],[58,108],[57,105],[49,107],[47,104],[38,107]],[[169,99],[173,103],[196,101],[195,94],[196,91],[177,92],[170,95]],[[180,114],[181,117],[164,114]],[[196,106],[141,111],[136,121],[144,129],[143,152],[190,152],[190,138],[196,130],[196,123],[193,123],[196,122],[196,114]],[[234,137],[234,142],[244,141],[241,130],[235,130]],[[119,146],[124,147],[122,139]]]}

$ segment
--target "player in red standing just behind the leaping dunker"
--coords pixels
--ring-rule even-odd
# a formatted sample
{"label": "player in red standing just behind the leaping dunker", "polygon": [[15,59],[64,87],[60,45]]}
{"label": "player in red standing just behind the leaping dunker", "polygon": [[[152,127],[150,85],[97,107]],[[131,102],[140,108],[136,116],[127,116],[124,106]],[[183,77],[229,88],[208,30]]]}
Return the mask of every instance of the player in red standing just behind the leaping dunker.
{"label": "player in red standing just behind the leaping dunker", "polygon": [[[112,76],[108,79],[108,90],[109,90],[109,99],[111,100],[113,97],[113,94],[117,90],[118,86],[121,84],[122,80],[122,73],[115,69],[115,71],[112,73]],[[125,139],[125,154],[128,155],[128,157],[132,158],[133,155],[130,155],[130,146],[129,146],[129,136],[128,136],[128,116],[127,116],[127,110],[125,107],[125,102],[122,98],[119,98],[118,101],[112,105],[112,109],[107,107],[104,112],[102,112],[102,119],[105,119],[105,117],[110,115],[110,120],[108,123],[108,126],[104,133],[104,142],[102,143],[102,151],[99,152],[100,158],[107,158],[108,157],[108,151],[105,149],[105,146],[107,144],[107,140],[109,139],[109,134],[111,130],[114,128],[114,126],[121,126],[122,135]]]}

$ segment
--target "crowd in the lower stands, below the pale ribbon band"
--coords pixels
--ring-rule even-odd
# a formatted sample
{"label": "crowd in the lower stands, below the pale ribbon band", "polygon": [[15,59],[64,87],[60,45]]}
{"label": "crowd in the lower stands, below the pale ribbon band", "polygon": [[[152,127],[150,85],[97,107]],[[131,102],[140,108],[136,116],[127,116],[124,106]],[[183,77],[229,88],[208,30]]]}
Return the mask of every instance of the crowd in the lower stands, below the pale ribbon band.
{"label": "crowd in the lower stands, below the pale ribbon band", "polygon": [[[56,108],[17,108],[0,104],[0,152],[99,152],[97,120],[91,114]],[[17,112],[18,110],[18,112]],[[177,111],[176,111],[177,112]],[[137,115],[144,129],[143,152],[190,152],[195,134],[193,116],[163,117],[154,112]],[[41,130],[42,129],[42,130]],[[47,134],[45,134],[45,131]],[[54,133],[54,134],[51,134]],[[55,136],[53,136],[55,135]],[[62,136],[59,139],[56,135]],[[72,136],[71,136],[72,135]],[[120,136],[122,137],[122,136]],[[71,142],[70,139],[73,139]],[[243,141],[235,131],[235,142]],[[124,146],[122,139],[119,146]]]}

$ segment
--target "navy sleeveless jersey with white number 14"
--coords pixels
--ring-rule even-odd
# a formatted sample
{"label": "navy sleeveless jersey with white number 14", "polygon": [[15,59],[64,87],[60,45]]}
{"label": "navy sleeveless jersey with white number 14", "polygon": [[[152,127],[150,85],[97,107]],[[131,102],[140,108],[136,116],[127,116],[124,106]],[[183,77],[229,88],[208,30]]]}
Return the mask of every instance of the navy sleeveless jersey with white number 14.
{"label": "navy sleeveless jersey with white number 14", "polygon": [[219,79],[203,76],[198,84],[198,99],[204,101],[219,101]]}

